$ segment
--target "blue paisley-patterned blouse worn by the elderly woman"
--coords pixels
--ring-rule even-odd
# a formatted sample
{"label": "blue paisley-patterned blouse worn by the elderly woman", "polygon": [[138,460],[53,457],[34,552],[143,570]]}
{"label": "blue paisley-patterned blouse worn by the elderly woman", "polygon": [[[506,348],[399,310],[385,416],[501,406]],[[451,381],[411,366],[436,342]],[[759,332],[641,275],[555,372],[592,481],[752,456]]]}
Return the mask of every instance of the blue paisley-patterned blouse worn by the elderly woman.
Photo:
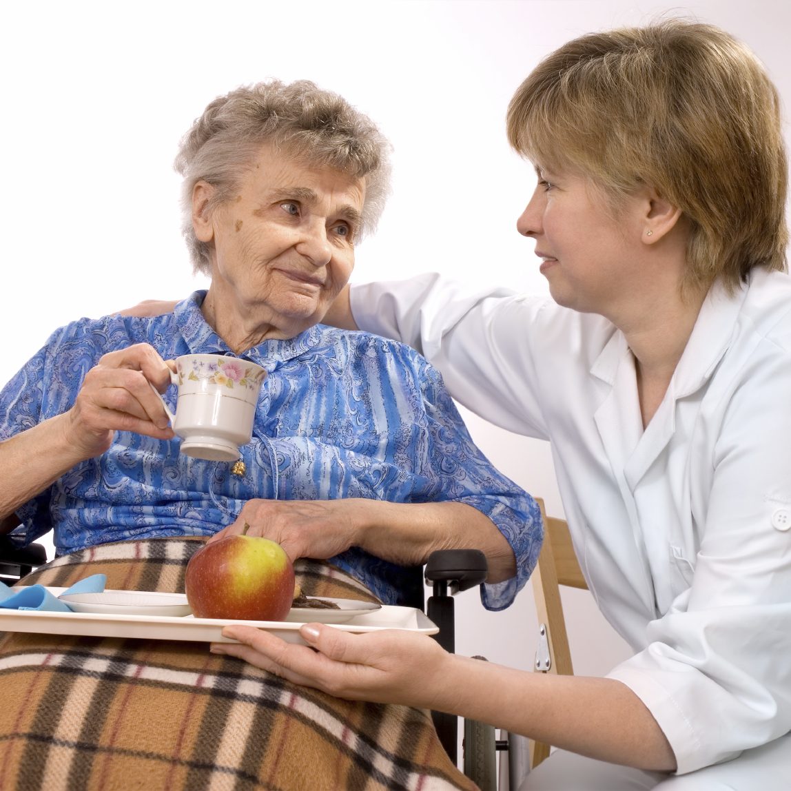
{"label": "blue paisley-patterned blouse worn by the elderly woman", "polygon": [[[0,392],[0,439],[69,409],[102,354],[150,343],[165,359],[233,352],[203,319],[205,292],[153,318],[81,319],[55,331]],[[482,588],[507,607],[538,558],[539,509],[475,447],[440,374],[408,346],[366,332],[316,325],[242,355],[267,369],[247,472],[183,456],[179,440],[118,432],[104,455],[78,464],[17,510],[32,541],[50,529],[65,554],[97,543],[209,536],[251,498],[393,502],[460,501],[485,513],[517,557],[517,577]],[[175,405],[175,388],[165,396]],[[332,562],[386,604],[422,589],[405,570],[352,548]],[[408,599],[407,599],[408,600]]]}

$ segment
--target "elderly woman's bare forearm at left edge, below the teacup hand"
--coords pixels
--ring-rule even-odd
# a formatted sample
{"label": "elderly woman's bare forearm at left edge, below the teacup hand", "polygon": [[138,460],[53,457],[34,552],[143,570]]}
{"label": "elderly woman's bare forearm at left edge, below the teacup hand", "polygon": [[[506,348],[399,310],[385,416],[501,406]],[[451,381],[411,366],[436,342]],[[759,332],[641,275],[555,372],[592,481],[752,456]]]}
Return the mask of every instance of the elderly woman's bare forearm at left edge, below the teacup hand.
{"label": "elderly woman's bare forearm at left edge, below the teacup hand", "polygon": [[62,430],[64,419],[58,415],[0,442],[0,520],[81,462]]}

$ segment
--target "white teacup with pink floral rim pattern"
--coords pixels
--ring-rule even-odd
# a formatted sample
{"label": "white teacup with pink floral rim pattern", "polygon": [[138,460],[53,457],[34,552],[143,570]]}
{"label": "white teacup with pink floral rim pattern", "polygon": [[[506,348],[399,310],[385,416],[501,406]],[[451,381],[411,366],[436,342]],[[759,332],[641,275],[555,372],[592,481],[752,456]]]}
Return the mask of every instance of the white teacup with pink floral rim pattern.
{"label": "white teacup with pink floral rim pattern", "polygon": [[172,384],[179,386],[176,414],[161,395],[160,399],[182,438],[181,452],[198,459],[236,461],[240,445],[252,439],[255,405],[266,376],[260,365],[222,354],[176,358],[176,373],[170,374]]}

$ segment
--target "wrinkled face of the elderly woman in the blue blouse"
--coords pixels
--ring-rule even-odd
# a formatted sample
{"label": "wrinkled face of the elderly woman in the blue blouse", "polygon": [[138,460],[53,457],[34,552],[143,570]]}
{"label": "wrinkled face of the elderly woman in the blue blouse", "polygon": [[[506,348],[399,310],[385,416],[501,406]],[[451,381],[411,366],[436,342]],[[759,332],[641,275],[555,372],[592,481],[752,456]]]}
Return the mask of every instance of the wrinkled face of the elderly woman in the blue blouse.
{"label": "wrinkled face of the elderly woman in the blue blouse", "polygon": [[293,337],[320,321],[354,268],[363,180],[263,146],[236,194],[212,212],[201,209],[211,190],[201,184],[195,232],[214,247],[213,309],[227,301],[248,324],[255,316],[263,337]]}

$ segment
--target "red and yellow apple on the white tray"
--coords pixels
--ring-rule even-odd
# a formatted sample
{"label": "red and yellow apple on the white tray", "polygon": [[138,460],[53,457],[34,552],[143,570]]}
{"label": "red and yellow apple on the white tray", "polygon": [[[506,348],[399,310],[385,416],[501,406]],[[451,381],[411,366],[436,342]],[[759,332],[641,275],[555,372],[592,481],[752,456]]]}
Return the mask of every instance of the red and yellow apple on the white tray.
{"label": "red and yellow apple on the white tray", "polygon": [[293,602],[293,564],[270,539],[225,536],[190,558],[184,592],[195,618],[282,621]]}

